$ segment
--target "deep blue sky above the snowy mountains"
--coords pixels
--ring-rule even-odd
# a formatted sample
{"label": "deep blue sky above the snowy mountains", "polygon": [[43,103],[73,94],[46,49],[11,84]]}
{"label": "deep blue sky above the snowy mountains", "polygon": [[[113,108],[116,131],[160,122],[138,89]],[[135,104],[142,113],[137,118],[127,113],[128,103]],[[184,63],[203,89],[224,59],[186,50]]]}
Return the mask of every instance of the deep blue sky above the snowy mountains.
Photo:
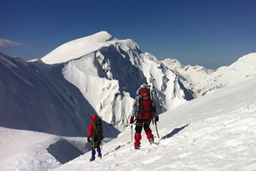
{"label": "deep blue sky above the snowy mountains", "polygon": [[255,0],[1,0],[0,46],[23,60],[42,58],[73,39],[108,31],[133,39],[159,60],[208,69],[256,52]]}

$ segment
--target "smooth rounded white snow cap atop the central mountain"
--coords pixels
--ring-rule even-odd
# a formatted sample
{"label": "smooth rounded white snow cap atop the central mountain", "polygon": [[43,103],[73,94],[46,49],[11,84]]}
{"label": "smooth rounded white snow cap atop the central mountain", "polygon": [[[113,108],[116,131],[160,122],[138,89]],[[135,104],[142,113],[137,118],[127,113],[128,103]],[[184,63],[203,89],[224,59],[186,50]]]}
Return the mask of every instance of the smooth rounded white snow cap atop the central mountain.
{"label": "smooth rounded white snow cap atop the central mountain", "polygon": [[57,47],[48,55],[44,56],[42,61],[45,62],[45,64],[59,64],[70,61],[74,58],[79,58],[91,53],[100,47],[108,46],[108,41],[113,39],[115,38],[108,34],[107,31],[101,31],[89,37],[75,39]]}

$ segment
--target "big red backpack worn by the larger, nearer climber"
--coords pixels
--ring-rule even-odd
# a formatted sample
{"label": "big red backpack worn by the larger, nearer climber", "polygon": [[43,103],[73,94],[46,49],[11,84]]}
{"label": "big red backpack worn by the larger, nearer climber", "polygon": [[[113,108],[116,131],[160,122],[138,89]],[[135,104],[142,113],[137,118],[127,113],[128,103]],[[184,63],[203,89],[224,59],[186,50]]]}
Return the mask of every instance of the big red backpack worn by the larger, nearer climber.
{"label": "big red backpack worn by the larger, nearer climber", "polygon": [[141,88],[137,101],[139,102],[139,119],[152,119],[154,118],[153,102],[148,88]]}

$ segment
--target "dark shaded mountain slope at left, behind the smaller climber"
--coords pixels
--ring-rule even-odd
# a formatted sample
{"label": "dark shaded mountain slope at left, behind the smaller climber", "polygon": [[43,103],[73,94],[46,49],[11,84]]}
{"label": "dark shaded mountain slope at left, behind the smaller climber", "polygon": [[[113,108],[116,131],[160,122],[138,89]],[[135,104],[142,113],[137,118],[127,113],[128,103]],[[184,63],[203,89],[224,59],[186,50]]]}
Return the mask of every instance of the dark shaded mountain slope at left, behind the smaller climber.
{"label": "dark shaded mountain slope at left, behind the smaller climber", "polygon": [[[0,126],[64,136],[86,136],[97,114],[78,88],[64,79],[62,65],[26,62],[0,53]],[[106,126],[106,136],[119,133]]]}

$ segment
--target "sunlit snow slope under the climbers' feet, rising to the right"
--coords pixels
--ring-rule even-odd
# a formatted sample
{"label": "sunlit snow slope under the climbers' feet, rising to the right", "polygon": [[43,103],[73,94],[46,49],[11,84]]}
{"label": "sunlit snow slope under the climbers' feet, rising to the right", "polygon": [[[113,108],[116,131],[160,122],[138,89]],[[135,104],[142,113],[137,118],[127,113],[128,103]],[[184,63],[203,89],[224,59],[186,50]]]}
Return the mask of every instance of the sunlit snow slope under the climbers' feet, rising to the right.
{"label": "sunlit snow slope under the climbers' feet, rising to the right", "polygon": [[159,145],[131,132],[103,145],[103,158],[85,153],[56,170],[255,170],[256,77],[226,86],[160,115]]}

